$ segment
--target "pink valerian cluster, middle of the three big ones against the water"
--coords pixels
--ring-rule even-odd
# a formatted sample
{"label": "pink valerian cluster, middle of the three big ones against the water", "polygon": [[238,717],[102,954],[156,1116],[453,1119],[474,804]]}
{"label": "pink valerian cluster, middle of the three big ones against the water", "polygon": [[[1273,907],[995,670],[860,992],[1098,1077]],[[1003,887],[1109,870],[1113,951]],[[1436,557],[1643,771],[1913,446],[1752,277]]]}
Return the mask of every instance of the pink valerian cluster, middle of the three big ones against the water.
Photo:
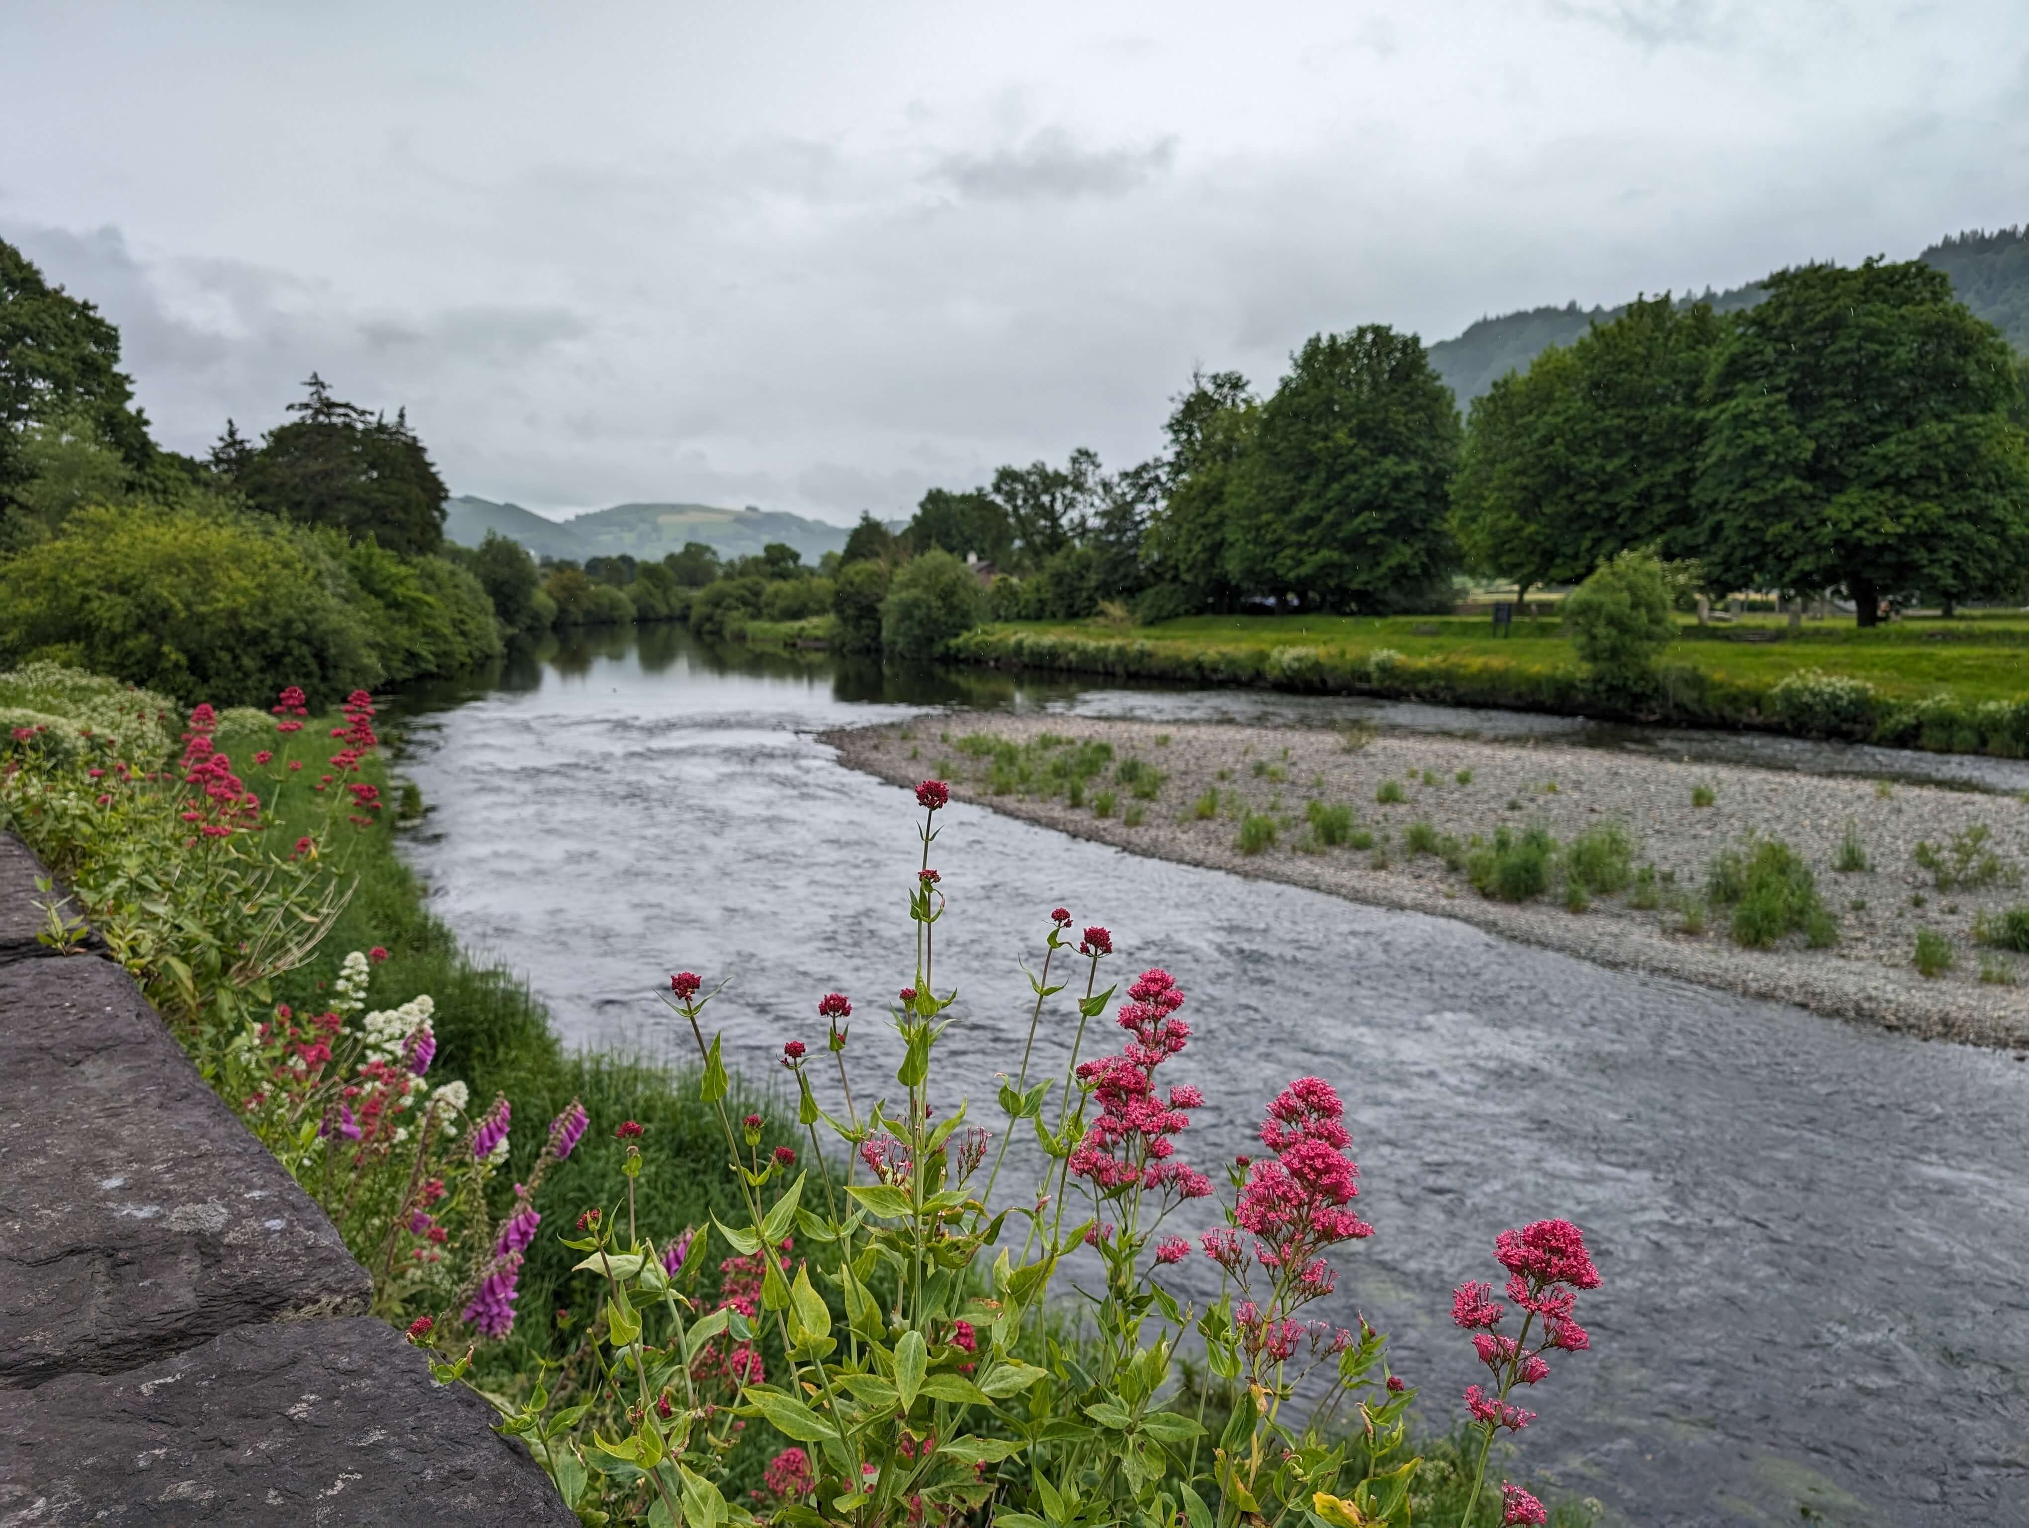
{"label": "pink valerian cluster, middle of the three big ones against the water", "polygon": [[[1331,1268],[1319,1256],[1325,1248],[1374,1234],[1347,1207],[1359,1193],[1359,1169],[1345,1155],[1351,1136],[1343,1118],[1329,1082],[1297,1078],[1268,1104],[1260,1130],[1274,1159],[1246,1165],[1234,1220],[1254,1236],[1254,1258],[1264,1268],[1290,1274],[1295,1303],[1331,1291]],[[1223,1266],[1226,1256],[1211,1256]]]}

